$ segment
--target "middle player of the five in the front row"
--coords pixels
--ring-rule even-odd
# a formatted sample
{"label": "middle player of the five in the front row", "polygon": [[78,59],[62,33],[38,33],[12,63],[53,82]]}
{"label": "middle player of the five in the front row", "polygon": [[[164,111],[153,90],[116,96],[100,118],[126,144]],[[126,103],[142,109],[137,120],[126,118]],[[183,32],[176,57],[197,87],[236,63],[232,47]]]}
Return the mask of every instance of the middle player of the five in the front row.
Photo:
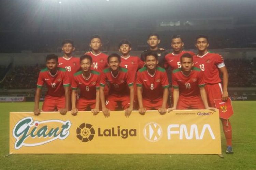
{"label": "middle player of the five in the front row", "polygon": [[[109,68],[106,68],[100,80],[100,100],[102,111],[106,117],[109,117],[109,110],[116,110],[118,104],[125,109],[125,116],[128,117],[133,109],[134,101],[134,77],[128,73],[126,68],[120,67],[121,57],[118,54],[108,56]],[[105,101],[104,87],[109,83],[110,89]],[[106,102],[106,103],[105,103]]]}

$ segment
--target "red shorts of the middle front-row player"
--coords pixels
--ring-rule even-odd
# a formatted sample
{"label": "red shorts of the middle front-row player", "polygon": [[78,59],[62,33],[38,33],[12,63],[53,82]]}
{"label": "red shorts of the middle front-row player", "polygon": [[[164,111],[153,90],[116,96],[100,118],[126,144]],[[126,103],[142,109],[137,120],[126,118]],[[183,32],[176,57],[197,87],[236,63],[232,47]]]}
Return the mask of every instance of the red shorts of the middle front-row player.
{"label": "red shorts of the middle front-row player", "polygon": [[116,97],[109,95],[106,99],[106,108],[111,111],[118,109],[118,103],[121,104],[123,110],[130,106],[130,96]]}

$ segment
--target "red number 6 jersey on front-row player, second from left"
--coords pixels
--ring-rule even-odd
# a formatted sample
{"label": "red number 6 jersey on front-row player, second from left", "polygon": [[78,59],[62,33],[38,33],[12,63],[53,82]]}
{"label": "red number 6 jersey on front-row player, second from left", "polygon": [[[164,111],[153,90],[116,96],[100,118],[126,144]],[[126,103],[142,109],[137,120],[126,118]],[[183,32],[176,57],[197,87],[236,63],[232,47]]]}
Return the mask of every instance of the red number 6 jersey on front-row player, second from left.
{"label": "red number 6 jersey on front-row player, second from left", "polygon": [[96,89],[100,88],[100,73],[91,70],[91,74],[87,79],[84,77],[82,71],[75,73],[71,88],[72,90],[80,89],[79,98],[86,100],[96,99]]}

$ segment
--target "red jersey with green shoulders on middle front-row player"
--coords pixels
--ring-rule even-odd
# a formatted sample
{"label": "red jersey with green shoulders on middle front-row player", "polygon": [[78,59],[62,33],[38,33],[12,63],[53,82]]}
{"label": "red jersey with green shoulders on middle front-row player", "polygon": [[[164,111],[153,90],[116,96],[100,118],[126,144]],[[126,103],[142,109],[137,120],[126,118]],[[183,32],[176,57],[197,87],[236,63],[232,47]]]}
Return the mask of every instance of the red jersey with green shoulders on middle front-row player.
{"label": "red jersey with green shoulders on middle front-row player", "polygon": [[134,76],[128,74],[126,68],[120,67],[119,73],[117,76],[111,72],[110,68],[107,68],[103,71],[100,79],[100,86],[105,87],[106,83],[110,84],[109,95],[122,97],[130,94],[130,86],[133,86]]}

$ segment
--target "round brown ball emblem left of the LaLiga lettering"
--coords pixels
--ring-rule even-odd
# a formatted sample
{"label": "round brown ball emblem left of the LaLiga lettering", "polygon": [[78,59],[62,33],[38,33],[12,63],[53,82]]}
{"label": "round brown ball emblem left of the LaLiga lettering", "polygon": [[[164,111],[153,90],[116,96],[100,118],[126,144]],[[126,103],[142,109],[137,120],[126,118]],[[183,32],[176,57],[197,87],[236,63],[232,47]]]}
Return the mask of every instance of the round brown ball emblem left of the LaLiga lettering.
{"label": "round brown ball emblem left of the LaLiga lettering", "polygon": [[82,123],[79,127],[76,128],[76,137],[82,142],[88,142],[93,140],[95,131],[93,126],[88,123]]}

